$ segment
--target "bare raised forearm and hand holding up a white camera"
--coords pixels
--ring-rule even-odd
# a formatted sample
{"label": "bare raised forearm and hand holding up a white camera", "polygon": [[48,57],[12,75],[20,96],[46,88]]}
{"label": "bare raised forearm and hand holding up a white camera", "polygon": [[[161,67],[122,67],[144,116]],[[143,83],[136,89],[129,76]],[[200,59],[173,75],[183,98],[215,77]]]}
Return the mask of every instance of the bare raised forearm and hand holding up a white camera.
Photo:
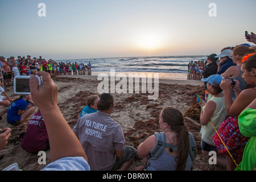
{"label": "bare raised forearm and hand holding up a white camera", "polygon": [[72,156],[82,156],[88,160],[79,140],[57,106],[57,85],[49,73],[40,71],[36,75],[43,77],[43,85],[39,86],[37,78],[31,75],[31,96],[46,123],[52,162]]}

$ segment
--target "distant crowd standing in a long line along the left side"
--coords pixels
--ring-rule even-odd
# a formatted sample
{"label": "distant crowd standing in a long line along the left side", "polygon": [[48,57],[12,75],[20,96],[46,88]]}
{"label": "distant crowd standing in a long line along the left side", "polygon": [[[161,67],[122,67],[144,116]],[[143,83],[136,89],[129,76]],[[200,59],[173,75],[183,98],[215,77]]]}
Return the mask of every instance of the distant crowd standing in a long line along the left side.
{"label": "distant crowd standing in a long line along the left side", "polygon": [[38,71],[48,72],[51,76],[54,75],[91,75],[92,65],[90,62],[85,63],[63,63],[56,62],[52,59],[48,61],[43,59],[42,56],[39,58],[31,58],[30,55],[26,57],[11,56],[9,58],[0,56],[0,78],[3,84],[1,86],[10,86],[11,78],[18,75],[35,75]]}

